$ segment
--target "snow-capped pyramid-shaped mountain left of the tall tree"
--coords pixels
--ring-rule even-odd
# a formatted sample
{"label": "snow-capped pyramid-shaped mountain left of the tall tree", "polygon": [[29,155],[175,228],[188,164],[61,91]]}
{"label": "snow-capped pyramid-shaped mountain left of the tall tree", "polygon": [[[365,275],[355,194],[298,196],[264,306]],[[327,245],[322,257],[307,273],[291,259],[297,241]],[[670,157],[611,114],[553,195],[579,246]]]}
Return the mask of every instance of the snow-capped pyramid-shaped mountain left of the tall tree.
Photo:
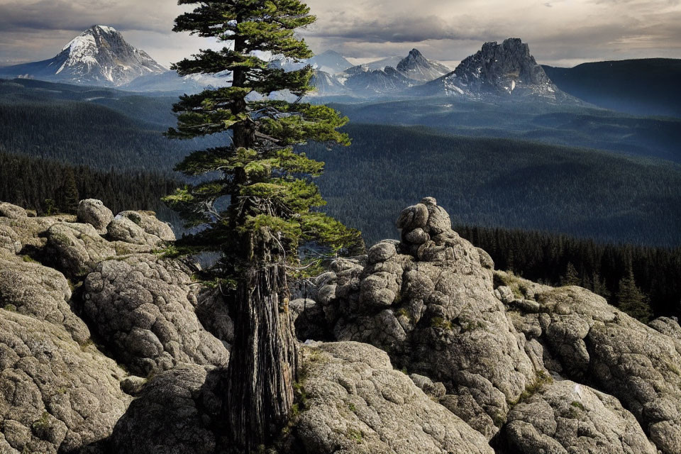
{"label": "snow-capped pyramid-shaped mountain left of the tall tree", "polygon": [[50,60],[5,67],[0,75],[121,87],[140,76],[167,71],[147,52],[128,44],[116,29],[92,26]]}

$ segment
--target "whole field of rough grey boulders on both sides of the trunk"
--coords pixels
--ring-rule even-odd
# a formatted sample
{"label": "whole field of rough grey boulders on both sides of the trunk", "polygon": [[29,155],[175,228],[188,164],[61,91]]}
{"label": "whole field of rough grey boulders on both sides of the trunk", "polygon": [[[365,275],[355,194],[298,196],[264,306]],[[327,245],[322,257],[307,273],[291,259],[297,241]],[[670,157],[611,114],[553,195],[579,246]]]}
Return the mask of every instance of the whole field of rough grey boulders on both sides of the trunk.
{"label": "whole field of rough grey boulders on both sides of the trunk", "polygon": [[[290,301],[297,404],[263,452],[681,453],[681,326],[501,270],[433,198]],[[0,203],[0,453],[229,452],[231,301],[172,229]],[[294,291],[294,294],[297,294]]]}

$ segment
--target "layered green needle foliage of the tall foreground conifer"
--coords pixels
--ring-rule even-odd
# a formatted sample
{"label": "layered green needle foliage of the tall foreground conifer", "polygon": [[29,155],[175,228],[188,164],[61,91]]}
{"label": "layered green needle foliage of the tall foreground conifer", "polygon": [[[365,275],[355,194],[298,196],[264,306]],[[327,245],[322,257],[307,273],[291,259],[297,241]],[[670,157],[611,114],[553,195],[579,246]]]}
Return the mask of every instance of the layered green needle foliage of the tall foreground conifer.
{"label": "layered green needle foliage of the tall foreground conifer", "polygon": [[[296,28],[316,20],[309,7],[298,0],[180,0],[179,4],[198,6],[176,19],[175,31],[231,45],[201,50],[173,69],[182,75],[233,74],[231,87],[185,95],[174,106],[177,128],[167,133],[172,138],[231,133],[228,145],[196,151],[176,167],[192,177],[214,176],[178,189],[165,199],[188,226],[207,227],[187,243],[221,250],[228,265],[223,272],[236,275],[240,268],[250,266],[253,251],[244,248],[251,243],[249,237],[262,228],[281,234],[290,262],[299,260],[298,248],[303,242],[328,245],[333,250],[360,250],[363,243],[358,231],[314,211],[326,204],[311,182],[323,172],[323,162],[293,148],[309,141],[349,145],[348,135],[337,131],[348,118],[327,106],[300,102],[311,90],[311,67],[284,72],[270,68],[258,57],[260,52],[295,61],[311,57],[304,40],[294,35]],[[282,90],[298,96],[298,101],[247,99],[253,92],[267,96]]]}

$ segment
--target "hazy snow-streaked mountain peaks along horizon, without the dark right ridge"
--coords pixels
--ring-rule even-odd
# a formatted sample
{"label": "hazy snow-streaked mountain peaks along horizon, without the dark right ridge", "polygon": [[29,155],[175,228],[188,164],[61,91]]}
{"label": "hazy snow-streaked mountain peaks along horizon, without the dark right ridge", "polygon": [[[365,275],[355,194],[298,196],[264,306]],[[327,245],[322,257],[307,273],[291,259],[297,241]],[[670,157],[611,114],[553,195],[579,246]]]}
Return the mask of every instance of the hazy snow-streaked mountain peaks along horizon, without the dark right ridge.
{"label": "hazy snow-streaked mountain peaks along horizon, without the dark right ridge", "polygon": [[[502,45],[486,43],[453,72],[439,62],[428,60],[417,49],[406,57],[389,57],[353,66],[343,55],[328,50],[309,60],[273,60],[272,67],[296,70],[315,68],[317,96],[348,95],[359,98],[380,96],[441,96],[464,94],[530,93],[546,97],[559,92],[529,53],[528,45],[509,39]],[[0,77],[35,78],[99,87],[116,87],[135,92],[198,92],[228,83],[229,74],[193,74],[179,77],[134,48],[123,35],[109,26],[92,26],[70,41],[49,60],[0,69]]]}

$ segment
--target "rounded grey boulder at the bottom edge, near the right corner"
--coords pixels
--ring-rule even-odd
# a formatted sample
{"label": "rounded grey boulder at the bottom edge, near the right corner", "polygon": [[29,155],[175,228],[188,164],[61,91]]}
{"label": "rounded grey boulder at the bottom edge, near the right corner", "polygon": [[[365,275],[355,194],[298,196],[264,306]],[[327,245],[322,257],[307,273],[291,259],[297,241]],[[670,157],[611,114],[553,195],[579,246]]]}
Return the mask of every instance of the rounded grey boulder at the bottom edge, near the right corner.
{"label": "rounded grey boulder at the bottom edge, near the right corner", "polygon": [[508,419],[504,438],[513,453],[657,453],[617,399],[575,382],[553,382]]}

